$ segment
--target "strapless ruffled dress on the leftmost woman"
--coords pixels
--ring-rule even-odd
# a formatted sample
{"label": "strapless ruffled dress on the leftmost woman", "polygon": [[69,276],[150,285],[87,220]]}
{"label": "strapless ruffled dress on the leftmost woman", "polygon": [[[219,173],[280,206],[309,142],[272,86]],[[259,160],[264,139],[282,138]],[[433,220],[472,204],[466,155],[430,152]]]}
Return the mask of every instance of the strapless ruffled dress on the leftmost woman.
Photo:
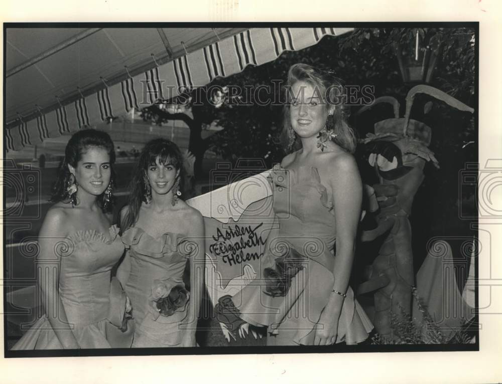
{"label": "strapless ruffled dress on the leftmost woman", "polygon": [[[124,246],[118,228],[112,226],[108,234],[96,230],[78,231],[57,243],[60,254],[59,296],[69,324],[80,348],[110,348],[107,329],[111,325],[109,293],[111,269],[122,256]],[[38,268],[42,273],[57,273],[54,263],[44,260]],[[112,326],[113,327],[113,326]],[[46,315],[13,346],[22,349],[61,349],[56,333]]]}

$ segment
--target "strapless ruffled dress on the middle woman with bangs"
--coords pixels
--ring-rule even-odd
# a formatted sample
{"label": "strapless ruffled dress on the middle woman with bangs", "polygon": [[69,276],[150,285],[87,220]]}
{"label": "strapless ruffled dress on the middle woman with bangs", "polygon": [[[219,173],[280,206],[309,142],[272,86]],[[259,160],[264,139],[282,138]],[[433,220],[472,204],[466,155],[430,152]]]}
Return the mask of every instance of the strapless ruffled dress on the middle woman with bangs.
{"label": "strapless ruffled dress on the middle woman with bangs", "polygon": [[[192,243],[175,233],[154,238],[138,227],[124,232],[122,242],[131,258],[124,289],[136,322],[133,347],[179,345],[185,333],[191,331],[184,326],[189,321],[189,296],[186,300],[175,297],[167,316],[160,313],[156,300],[173,294],[177,287],[184,289],[183,272],[193,252]],[[178,301],[181,303],[176,304]]]}

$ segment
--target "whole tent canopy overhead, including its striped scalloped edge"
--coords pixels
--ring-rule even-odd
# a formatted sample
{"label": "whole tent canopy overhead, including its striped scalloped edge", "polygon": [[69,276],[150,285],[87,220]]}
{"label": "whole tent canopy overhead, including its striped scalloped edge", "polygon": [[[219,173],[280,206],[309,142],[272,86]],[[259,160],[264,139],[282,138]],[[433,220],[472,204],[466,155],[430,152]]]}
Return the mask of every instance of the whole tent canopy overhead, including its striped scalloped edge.
{"label": "whole tent canopy overhead, including its striped scalloped edge", "polygon": [[351,28],[7,27],[7,150],[94,126]]}

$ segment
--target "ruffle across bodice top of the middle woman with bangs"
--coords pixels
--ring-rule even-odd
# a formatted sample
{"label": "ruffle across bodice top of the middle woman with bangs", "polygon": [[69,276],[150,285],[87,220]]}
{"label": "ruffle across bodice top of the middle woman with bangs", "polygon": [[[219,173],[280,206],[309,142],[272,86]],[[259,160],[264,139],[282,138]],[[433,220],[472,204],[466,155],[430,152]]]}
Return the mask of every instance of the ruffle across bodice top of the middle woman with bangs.
{"label": "ruffle across bodice top of the middle woman with bangs", "polygon": [[124,232],[122,242],[128,248],[133,247],[136,253],[153,258],[161,258],[166,253],[173,252],[188,257],[195,247],[195,244],[181,234],[166,232],[162,236],[154,238],[139,227],[129,228]]}

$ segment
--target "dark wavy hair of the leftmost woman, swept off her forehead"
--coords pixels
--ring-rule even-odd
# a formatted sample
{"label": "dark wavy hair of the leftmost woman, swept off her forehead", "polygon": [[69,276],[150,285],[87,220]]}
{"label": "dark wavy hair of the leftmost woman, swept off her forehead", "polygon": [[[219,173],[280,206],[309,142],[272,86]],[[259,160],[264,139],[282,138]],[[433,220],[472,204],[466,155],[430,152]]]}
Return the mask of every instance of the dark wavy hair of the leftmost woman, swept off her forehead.
{"label": "dark wavy hair of the leftmost woman, swept off her forehead", "polygon": [[[113,145],[113,141],[111,141],[110,135],[97,129],[82,129],[78,132],[75,132],[66,144],[64,159],[59,165],[56,182],[52,187],[52,195],[49,200],[50,202],[71,202],[72,204],[77,203],[74,199],[68,196],[66,191],[68,187],[68,180],[71,176],[70,170],[68,169],[68,164],[72,167],[76,167],[77,163],[82,158],[82,155],[89,147],[104,148],[110,156],[110,184],[113,185],[113,182],[115,180],[115,171],[113,170],[112,165],[115,162],[115,147]],[[106,202],[104,199],[104,193],[98,196],[97,202],[104,213],[109,213],[112,211],[113,199],[111,199],[109,202]]]}

